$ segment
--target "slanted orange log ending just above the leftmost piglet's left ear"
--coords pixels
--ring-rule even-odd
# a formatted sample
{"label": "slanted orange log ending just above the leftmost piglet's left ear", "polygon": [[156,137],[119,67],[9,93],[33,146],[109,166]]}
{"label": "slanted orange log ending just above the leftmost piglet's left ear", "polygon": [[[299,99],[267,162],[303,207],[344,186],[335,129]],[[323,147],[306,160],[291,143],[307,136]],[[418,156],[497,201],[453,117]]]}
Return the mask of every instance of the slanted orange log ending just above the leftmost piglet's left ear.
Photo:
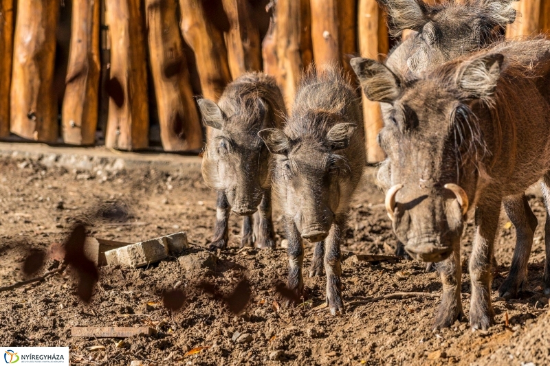
{"label": "slanted orange log ending just above the leftmost piglet's left ear", "polygon": [[223,34],[206,17],[201,0],[179,0],[181,33],[195,52],[204,98],[216,102],[230,81]]}

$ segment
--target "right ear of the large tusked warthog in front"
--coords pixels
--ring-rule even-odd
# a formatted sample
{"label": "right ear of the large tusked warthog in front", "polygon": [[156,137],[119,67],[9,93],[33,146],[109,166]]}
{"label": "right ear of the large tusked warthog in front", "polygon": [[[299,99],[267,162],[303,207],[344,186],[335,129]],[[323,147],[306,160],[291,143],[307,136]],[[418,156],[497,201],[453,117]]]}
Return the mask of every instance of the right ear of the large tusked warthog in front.
{"label": "right ear of the large tusked warthog in front", "polygon": [[504,56],[490,54],[467,62],[459,69],[456,79],[457,86],[466,94],[467,98],[487,98],[496,89],[496,82],[500,78],[500,70]]}

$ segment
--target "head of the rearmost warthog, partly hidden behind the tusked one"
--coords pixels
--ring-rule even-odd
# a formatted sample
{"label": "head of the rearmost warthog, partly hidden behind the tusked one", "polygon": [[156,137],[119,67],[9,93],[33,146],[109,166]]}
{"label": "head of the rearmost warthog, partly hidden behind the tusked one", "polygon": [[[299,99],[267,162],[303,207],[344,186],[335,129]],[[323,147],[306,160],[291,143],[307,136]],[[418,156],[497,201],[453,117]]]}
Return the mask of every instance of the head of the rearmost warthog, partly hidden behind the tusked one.
{"label": "head of the rearmost warthog, partly hidden behind the tusked one", "polygon": [[444,1],[428,5],[423,0],[377,0],[388,11],[393,36],[410,29],[415,34],[407,65],[419,73],[483,47],[498,36],[498,26],[514,23],[517,0]]}

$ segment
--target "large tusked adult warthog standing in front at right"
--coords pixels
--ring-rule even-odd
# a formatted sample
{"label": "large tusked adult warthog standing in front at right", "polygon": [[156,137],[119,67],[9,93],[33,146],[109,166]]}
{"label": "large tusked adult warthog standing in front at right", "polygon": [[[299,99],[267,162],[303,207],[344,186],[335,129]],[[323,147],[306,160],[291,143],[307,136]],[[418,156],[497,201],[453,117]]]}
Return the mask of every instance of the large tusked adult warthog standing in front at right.
{"label": "large tusked adult warthog standing in front at right", "polygon": [[[463,315],[460,238],[467,209],[476,207],[470,325],[487,329],[501,201],[542,176],[550,207],[550,41],[499,43],[412,80],[374,60],[352,63],[367,97],[387,103],[379,141],[389,157],[382,172],[392,185],[386,208],[394,231],[412,257],[443,261],[434,327]],[[550,235],[546,244],[548,252]],[[549,269],[547,262],[546,289]]]}

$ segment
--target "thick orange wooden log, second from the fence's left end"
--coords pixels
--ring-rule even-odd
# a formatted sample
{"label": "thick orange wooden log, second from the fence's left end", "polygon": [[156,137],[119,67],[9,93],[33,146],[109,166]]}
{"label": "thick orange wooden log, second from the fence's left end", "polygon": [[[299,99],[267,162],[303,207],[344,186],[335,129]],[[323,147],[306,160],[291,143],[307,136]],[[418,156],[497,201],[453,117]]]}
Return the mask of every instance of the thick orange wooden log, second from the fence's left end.
{"label": "thick orange wooden log, second from the fence's left end", "polygon": [[52,81],[59,1],[19,0],[17,5],[10,130],[26,139],[54,142],[58,124]]}

